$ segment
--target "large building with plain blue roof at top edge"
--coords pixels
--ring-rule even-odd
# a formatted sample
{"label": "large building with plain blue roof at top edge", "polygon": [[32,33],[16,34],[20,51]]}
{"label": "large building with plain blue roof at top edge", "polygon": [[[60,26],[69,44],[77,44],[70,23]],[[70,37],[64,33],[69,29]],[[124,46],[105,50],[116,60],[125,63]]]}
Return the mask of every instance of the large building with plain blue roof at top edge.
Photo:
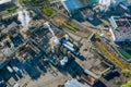
{"label": "large building with plain blue roof at top edge", "polygon": [[92,4],[92,0],[61,0],[61,2],[69,13]]}

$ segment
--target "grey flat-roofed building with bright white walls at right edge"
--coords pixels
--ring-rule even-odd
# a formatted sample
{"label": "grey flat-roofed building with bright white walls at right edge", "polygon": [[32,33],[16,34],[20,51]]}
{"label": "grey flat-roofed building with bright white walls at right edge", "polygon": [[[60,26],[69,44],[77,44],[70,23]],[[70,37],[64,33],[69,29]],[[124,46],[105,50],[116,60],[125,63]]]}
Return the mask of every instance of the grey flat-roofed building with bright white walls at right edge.
{"label": "grey flat-roofed building with bright white walls at right edge", "polygon": [[112,28],[110,28],[110,33],[114,41],[131,41],[131,16],[111,16],[109,22],[112,26]]}

